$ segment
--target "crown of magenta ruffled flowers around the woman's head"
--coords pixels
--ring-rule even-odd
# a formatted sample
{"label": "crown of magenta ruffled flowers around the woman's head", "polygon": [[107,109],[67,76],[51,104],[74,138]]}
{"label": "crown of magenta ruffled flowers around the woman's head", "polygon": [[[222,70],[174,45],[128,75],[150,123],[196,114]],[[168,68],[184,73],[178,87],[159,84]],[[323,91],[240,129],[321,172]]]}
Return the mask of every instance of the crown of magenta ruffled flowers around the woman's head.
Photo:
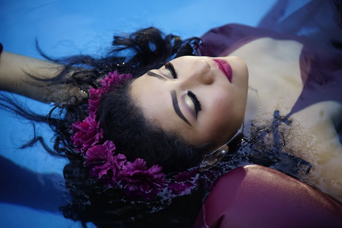
{"label": "crown of magenta ruffled flowers around the woman's head", "polygon": [[146,162],[137,158],[127,161],[126,156],[115,153],[115,144],[104,139],[104,131],[100,122],[96,121],[96,110],[100,100],[114,86],[132,79],[131,74],[119,75],[117,71],[109,72],[100,80],[101,87],[90,88],[89,116],[82,122],[73,123],[71,143],[86,160],[84,165],[89,173],[101,180],[106,186],[122,188],[128,197],[142,197],[149,201],[158,194],[168,198],[189,194],[197,186],[197,169],[180,172],[166,178],[162,166],[153,165],[147,168]]}

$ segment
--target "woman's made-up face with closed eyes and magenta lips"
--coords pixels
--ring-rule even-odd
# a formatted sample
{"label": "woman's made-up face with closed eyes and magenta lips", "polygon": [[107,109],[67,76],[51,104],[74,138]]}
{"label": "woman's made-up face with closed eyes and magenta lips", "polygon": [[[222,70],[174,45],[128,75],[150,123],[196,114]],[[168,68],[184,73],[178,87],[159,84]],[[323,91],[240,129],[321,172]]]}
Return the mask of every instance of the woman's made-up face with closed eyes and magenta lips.
{"label": "woman's made-up face with closed eyes and magenta lips", "polygon": [[240,128],[247,90],[241,59],[183,56],[134,80],[130,92],[152,123],[190,144],[212,143],[216,149]]}

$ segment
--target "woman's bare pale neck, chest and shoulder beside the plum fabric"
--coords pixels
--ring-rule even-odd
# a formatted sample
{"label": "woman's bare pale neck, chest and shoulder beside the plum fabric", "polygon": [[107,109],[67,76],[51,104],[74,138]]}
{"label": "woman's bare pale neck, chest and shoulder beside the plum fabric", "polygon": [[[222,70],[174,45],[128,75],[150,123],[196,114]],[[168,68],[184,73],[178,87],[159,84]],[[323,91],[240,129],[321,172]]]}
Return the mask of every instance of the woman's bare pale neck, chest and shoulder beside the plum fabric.
{"label": "woman's bare pale neck, chest and shoulder beside the plum fabric", "polygon": [[[295,41],[262,38],[232,53],[240,56],[248,65],[249,83],[258,88],[263,112],[272,113],[280,105],[280,112],[286,115],[297,101],[303,86],[299,68],[301,49],[302,45]],[[267,54],[258,55],[258,58],[250,55],[265,52]],[[263,63],[267,63],[267,66]],[[249,94],[253,92],[249,91]],[[248,97],[252,101],[250,95]],[[248,103],[246,113],[252,113],[248,112]],[[252,115],[246,117],[247,120],[255,118]],[[342,104],[319,102],[294,113],[292,118],[298,121],[302,133],[312,137],[314,143],[314,151],[305,154],[292,151],[293,155],[312,164],[312,171],[305,181],[342,202],[342,146],[336,131],[342,120]],[[301,146],[300,138],[292,143]]]}

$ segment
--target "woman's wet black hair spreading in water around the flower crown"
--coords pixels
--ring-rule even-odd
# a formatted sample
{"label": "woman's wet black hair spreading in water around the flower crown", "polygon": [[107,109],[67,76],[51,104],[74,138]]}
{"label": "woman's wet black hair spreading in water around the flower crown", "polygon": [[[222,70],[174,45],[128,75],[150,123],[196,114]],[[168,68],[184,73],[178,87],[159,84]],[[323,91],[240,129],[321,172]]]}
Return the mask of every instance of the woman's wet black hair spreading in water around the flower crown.
{"label": "woman's wet black hair spreading in water around the flower crown", "polygon": [[[55,59],[46,55],[36,41],[37,50],[43,57],[63,64],[64,68],[52,79],[41,79],[33,74],[30,76],[36,79],[38,85],[39,82],[66,84],[89,93],[89,88],[97,88],[99,80],[108,72],[117,70],[118,73],[132,73],[137,78],[147,70],[160,68],[173,58],[196,55],[200,42],[196,37],[182,40],[150,27],[128,36],[114,36],[112,48],[103,57],[74,55]],[[73,73],[70,75],[70,72]],[[117,85],[101,100],[96,114],[105,139],[112,140],[117,153],[124,154],[129,161],[143,158],[147,166],[163,166],[166,174],[197,166],[201,155],[208,151],[210,145],[189,145],[176,134],[165,132],[147,121],[129,95],[129,83]],[[69,160],[63,175],[73,200],[61,207],[66,218],[81,221],[83,227],[86,227],[87,222],[93,222],[97,227],[135,227],[135,224],[138,224],[137,227],[143,224],[165,226],[164,219],[168,220],[166,227],[190,227],[194,223],[202,197],[191,203],[197,206],[190,211],[186,210],[184,202],[194,200],[196,193],[192,197],[179,197],[180,200],[173,200],[172,204],[169,199],[162,198],[146,203],[139,199],[131,200],[122,189],[109,188],[94,180],[84,166],[84,158],[70,142],[72,124],[89,115],[88,98],[70,95],[66,100],[56,103],[47,117],[37,115],[6,97],[1,99],[3,104],[7,103],[6,109],[34,122],[46,122],[55,132],[53,148],[49,148],[44,139],[36,135],[23,148],[40,142],[51,154]],[[183,212],[179,214],[180,211]]]}

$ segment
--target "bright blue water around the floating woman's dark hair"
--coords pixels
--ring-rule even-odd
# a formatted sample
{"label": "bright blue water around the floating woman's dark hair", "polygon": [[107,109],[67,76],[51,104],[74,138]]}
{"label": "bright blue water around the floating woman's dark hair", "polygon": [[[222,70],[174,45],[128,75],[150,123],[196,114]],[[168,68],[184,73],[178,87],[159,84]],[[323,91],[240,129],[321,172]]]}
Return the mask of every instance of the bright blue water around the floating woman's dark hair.
{"label": "bright blue water around the floating woman's dark hair", "polygon": [[[40,58],[38,38],[51,56],[77,53],[100,55],[114,33],[155,26],[182,38],[201,36],[210,28],[227,23],[257,26],[276,0],[100,0],[47,1],[1,0],[0,42],[5,51]],[[307,1],[297,1],[297,7]],[[286,14],[291,13],[286,12]],[[1,92],[3,93],[3,92]],[[33,110],[47,113],[51,106],[16,96]],[[39,173],[62,174],[65,159],[51,157],[40,145],[17,149],[32,137],[32,125],[0,110],[0,155]],[[37,125],[38,135],[52,137],[48,126]],[[4,174],[2,175],[10,175]],[[13,180],[15,181],[15,180]],[[6,183],[1,183],[5,188]],[[23,186],[24,187],[24,186]],[[80,227],[60,214],[0,203],[1,227]]]}

